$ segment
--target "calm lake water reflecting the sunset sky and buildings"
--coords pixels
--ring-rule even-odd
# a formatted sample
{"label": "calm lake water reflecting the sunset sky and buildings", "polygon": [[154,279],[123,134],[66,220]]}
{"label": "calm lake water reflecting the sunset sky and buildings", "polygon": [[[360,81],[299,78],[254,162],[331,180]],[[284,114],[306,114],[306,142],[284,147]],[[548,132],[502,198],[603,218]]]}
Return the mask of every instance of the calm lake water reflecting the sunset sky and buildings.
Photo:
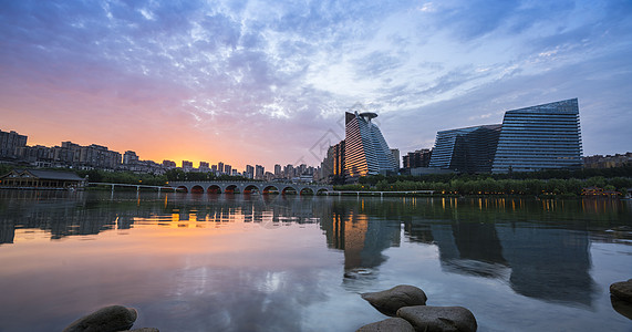
{"label": "calm lake water reflecting the sunset sky and buildings", "polygon": [[355,331],[385,319],[360,293],[397,284],[479,331],[632,331],[609,294],[630,226],[624,200],[0,190],[0,331],[110,304],[163,332]]}

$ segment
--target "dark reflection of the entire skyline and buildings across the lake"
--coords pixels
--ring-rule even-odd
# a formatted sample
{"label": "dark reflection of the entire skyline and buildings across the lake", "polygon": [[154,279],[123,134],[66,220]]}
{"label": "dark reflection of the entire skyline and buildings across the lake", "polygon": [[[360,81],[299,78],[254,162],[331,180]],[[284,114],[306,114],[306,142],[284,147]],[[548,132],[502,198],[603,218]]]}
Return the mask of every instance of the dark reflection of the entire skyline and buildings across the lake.
{"label": "dark reflection of the entire skyline and buildings across the lake", "polygon": [[621,214],[629,214],[611,201],[586,200],[174,193],[111,199],[106,194],[95,199],[94,193],[0,191],[0,245],[12,243],[17,229],[40,229],[61,239],[134,227],[218,228],[244,222],[276,228],[320,222],[328,247],[344,252],[344,280],[351,280],[376,278],[386,260],[383,251],[400,246],[404,225],[411,241],[438,247],[446,272],[501,279],[535,299],[591,305],[597,291],[590,277],[591,234],[595,225],[609,229],[612,220],[625,220],[628,215]]}

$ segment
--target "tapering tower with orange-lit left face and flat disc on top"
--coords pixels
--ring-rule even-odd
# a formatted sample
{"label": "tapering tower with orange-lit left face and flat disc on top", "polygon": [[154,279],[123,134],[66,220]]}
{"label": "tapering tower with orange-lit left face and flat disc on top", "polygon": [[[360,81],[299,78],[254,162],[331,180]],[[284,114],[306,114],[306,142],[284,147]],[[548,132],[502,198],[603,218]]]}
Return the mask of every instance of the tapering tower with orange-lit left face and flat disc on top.
{"label": "tapering tower with orange-lit left face and flat disc on top", "polygon": [[[345,114],[345,173],[351,178],[397,170],[397,163],[372,112]],[[349,180],[349,179],[348,179]]]}

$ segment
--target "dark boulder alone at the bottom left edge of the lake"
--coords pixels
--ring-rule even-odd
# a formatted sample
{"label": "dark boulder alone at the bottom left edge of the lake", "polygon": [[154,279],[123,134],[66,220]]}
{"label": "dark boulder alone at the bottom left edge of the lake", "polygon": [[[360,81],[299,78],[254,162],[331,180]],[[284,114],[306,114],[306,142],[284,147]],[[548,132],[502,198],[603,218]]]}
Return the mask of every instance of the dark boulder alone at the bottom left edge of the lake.
{"label": "dark boulder alone at the bottom left edge of the lake", "polygon": [[138,313],[134,308],[123,305],[110,305],[84,315],[63,332],[116,332],[129,330],[136,321]]}

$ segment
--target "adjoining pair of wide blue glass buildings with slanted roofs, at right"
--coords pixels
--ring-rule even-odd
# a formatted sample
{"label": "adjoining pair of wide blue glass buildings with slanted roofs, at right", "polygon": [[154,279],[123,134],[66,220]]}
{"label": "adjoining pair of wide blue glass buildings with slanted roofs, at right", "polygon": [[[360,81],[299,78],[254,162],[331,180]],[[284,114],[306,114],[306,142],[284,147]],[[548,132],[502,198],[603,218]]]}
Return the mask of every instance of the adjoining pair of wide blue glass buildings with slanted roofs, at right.
{"label": "adjoining pair of wide blue glass buildings with slanted roofs, at right", "polygon": [[577,98],[507,111],[501,125],[437,133],[429,167],[462,173],[582,166]]}

